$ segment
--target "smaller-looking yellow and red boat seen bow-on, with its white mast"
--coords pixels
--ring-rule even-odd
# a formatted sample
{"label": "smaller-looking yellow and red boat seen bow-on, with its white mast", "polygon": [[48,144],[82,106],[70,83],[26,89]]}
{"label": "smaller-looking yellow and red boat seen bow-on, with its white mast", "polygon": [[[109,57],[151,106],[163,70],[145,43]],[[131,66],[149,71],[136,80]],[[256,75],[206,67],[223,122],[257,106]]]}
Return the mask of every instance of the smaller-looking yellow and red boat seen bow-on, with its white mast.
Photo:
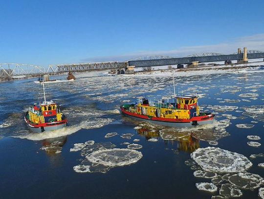
{"label": "smaller-looking yellow and red boat seen bow-on, with its white mast", "polygon": [[28,128],[34,133],[62,129],[66,127],[68,122],[55,102],[52,100],[46,101],[44,83],[43,90],[44,102],[38,106],[35,103],[33,107],[29,108],[24,117]]}

